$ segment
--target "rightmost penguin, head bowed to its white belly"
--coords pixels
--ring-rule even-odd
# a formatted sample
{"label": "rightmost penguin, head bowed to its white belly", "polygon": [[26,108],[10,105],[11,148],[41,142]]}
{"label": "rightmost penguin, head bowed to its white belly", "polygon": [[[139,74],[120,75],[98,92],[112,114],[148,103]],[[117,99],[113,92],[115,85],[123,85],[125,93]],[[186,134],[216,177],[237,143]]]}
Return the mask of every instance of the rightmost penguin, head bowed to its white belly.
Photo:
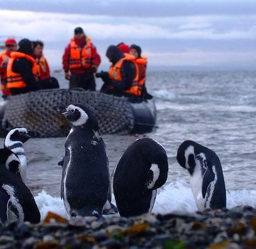
{"label": "rightmost penguin, head bowed to its white belly", "polygon": [[190,186],[200,211],[226,208],[226,188],[221,162],[216,153],[194,141],[184,141],[177,161],[189,171]]}

